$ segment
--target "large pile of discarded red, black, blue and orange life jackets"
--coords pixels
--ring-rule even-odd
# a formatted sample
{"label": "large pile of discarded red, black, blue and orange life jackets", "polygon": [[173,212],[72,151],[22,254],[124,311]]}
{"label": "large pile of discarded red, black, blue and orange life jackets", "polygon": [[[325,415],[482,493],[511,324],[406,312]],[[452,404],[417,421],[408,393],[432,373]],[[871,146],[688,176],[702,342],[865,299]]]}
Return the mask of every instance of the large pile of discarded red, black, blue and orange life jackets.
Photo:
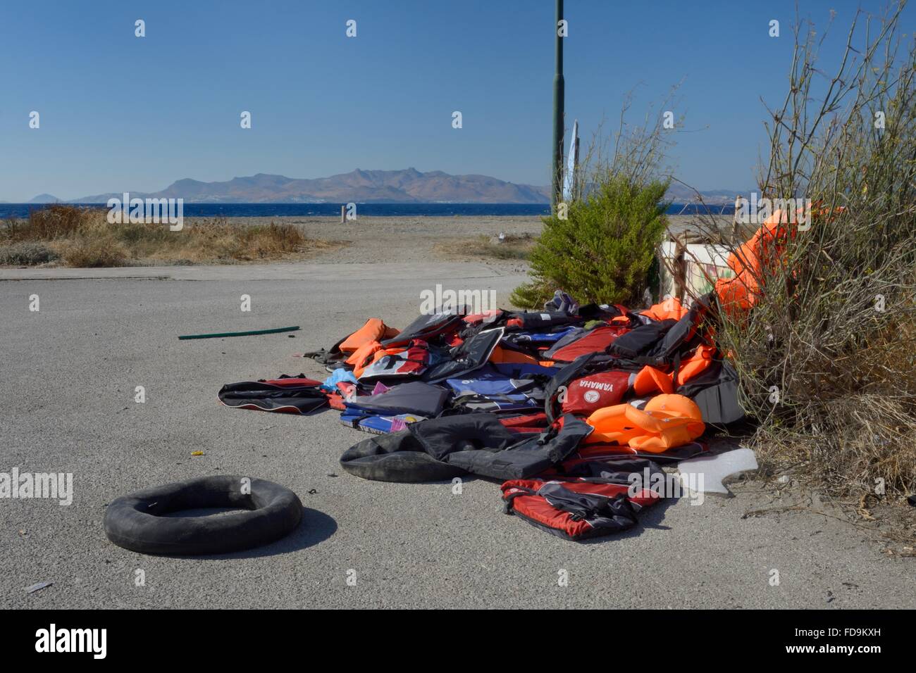
{"label": "large pile of discarded red, black, blue and orange life jackets", "polygon": [[634,526],[660,495],[633,474],[703,452],[707,425],[738,420],[735,370],[717,352],[711,294],[685,307],[462,309],[403,330],[378,318],[327,350],[328,374],[224,385],[230,407],[308,414],[332,407],[369,433],[344,451],[387,482],[498,479],[509,514],[583,539]]}

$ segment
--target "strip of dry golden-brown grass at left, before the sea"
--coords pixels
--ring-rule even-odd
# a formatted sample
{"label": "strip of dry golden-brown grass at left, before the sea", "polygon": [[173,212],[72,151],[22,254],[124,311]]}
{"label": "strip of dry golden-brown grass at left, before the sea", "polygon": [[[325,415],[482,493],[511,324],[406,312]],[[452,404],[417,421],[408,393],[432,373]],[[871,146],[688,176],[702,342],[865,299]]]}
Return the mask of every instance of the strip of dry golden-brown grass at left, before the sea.
{"label": "strip of dry golden-brown grass at left, before the sea", "polygon": [[24,244],[41,244],[67,266],[238,263],[301,259],[343,244],[307,238],[286,223],[244,225],[217,218],[186,222],[180,232],[172,232],[160,223],[110,224],[106,214],[54,205],[31,212],[27,220],[7,221],[0,230],[0,259],[29,264],[40,255],[16,251]]}

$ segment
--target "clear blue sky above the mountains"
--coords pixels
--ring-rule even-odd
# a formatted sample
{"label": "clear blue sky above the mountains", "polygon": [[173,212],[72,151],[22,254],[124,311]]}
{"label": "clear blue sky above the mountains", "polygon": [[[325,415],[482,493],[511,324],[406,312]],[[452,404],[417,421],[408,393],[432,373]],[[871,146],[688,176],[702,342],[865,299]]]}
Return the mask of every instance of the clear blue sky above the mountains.
{"label": "clear blue sky above the mountains", "polygon": [[[818,28],[837,12],[825,65],[859,4],[800,0]],[[785,94],[794,0],[566,0],[565,14],[567,125],[578,118],[583,141],[626,92],[635,118],[683,81],[676,175],[753,185],[760,98]],[[913,7],[905,16],[912,33]],[[547,184],[552,26],[551,0],[4,3],[0,200],[409,166]]]}

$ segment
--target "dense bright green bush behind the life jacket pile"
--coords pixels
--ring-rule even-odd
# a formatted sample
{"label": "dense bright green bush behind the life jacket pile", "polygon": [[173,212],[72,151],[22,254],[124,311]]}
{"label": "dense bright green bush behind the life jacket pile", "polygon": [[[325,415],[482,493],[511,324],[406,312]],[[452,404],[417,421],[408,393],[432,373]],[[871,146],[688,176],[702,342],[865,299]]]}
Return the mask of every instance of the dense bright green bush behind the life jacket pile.
{"label": "dense bright green bush behind the life jacket pile", "polygon": [[569,204],[565,220],[544,218],[530,255],[532,282],[516,288],[512,303],[539,308],[557,288],[583,303],[641,301],[668,223],[668,184],[611,170],[597,176],[587,196]]}

